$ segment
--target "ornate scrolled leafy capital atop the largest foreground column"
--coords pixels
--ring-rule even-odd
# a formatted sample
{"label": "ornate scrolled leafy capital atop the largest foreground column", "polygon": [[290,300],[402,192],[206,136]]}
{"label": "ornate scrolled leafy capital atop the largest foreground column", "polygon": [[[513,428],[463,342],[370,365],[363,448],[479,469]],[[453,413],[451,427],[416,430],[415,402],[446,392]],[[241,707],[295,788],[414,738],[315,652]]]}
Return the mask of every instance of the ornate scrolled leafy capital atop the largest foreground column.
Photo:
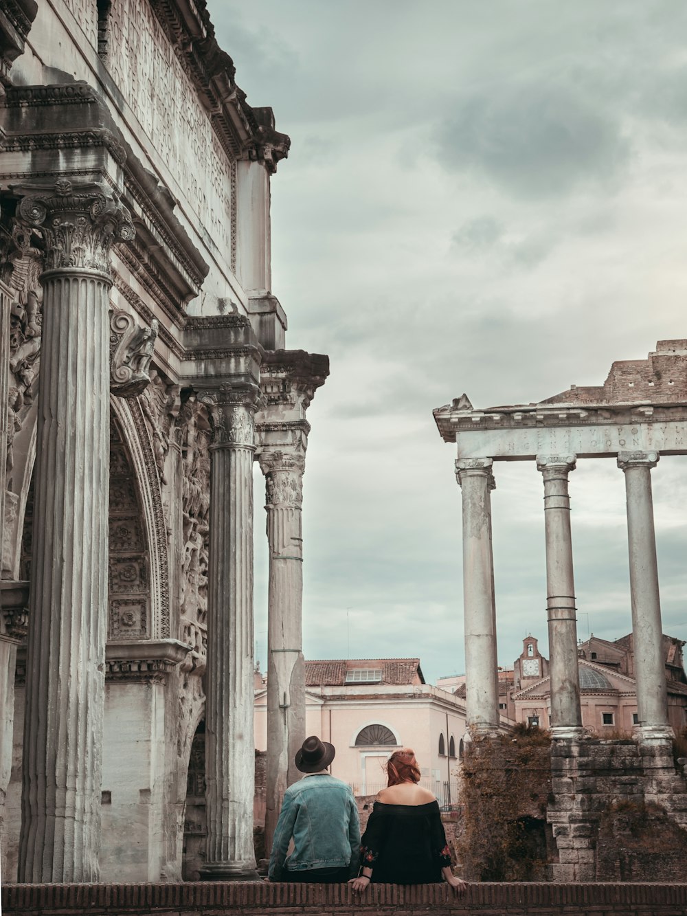
{"label": "ornate scrolled leafy capital atop the largest foreground column", "polygon": [[136,230],[119,197],[104,182],[27,184],[12,191],[21,197],[16,216],[40,229],[46,242],[46,269],[110,271],[115,240],[131,241]]}

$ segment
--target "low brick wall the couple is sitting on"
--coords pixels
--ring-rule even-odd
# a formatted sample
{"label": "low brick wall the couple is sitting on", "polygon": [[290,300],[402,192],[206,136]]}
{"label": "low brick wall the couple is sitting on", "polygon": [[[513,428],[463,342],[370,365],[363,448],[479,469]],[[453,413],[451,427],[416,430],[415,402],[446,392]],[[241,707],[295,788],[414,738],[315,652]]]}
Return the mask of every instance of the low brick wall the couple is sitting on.
{"label": "low brick wall the couple is sitting on", "polygon": [[186,883],[5,885],[3,914],[16,916],[683,916],[687,884],[475,884],[463,897],[445,885]]}

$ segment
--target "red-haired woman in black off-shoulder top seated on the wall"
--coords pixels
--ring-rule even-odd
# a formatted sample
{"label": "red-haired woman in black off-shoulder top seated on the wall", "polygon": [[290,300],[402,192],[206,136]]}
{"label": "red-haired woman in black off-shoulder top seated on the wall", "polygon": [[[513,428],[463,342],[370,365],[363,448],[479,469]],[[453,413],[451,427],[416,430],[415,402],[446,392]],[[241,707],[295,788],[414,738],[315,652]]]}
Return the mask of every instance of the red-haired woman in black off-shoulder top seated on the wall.
{"label": "red-haired woman in black off-shoulder top seated on the wall", "polygon": [[409,747],[387,763],[388,786],[376,797],[361,840],[360,875],[354,890],[377,884],[432,884],[442,879],[454,891],[467,887],[451,870],[439,804],[420,782],[420,767]]}

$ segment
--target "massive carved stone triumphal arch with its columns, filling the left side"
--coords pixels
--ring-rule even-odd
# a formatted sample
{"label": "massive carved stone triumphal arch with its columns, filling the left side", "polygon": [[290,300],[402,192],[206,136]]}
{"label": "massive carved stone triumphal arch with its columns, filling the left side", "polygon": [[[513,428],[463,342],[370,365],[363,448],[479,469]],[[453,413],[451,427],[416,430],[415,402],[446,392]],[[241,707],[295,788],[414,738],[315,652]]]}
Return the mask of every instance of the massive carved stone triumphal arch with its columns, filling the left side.
{"label": "massive carved stone triumphal arch with its columns, filling the left side", "polygon": [[329,372],[287,349],[272,293],[289,137],[203,3],[0,7],[3,878],[180,880],[203,734],[202,876],[255,877],[253,466],[269,832],[304,737],[306,415]]}

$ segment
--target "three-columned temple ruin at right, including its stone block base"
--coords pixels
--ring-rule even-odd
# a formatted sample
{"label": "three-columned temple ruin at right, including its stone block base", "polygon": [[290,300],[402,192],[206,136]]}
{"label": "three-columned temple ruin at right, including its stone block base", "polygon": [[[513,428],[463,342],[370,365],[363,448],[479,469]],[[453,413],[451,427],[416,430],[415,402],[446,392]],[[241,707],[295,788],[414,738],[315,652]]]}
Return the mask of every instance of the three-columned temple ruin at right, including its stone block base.
{"label": "three-columned temple ruin at right, including its stone block base", "polygon": [[[474,409],[463,394],[434,411],[442,439],[457,448],[465,709],[475,737],[495,735],[498,725],[494,468],[502,461],[529,461],[542,476],[553,738],[547,816],[558,847],[553,874],[559,880],[607,878],[599,871],[596,833],[613,799],[656,802],[679,828],[687,828],[687,784],[672,758],[651,496],[651,470],[661,454],[687,454],[686,369],[687,340],[659,341],[646,360],[614,363],[603,386],[573,386],[537,403],[489,409]],[[578,460],[599,459],[616,461],[627,494],[638,725],[635,743],[617,751],[606,747],[608,742],[589,740],[580,710],[568,478]]]}

